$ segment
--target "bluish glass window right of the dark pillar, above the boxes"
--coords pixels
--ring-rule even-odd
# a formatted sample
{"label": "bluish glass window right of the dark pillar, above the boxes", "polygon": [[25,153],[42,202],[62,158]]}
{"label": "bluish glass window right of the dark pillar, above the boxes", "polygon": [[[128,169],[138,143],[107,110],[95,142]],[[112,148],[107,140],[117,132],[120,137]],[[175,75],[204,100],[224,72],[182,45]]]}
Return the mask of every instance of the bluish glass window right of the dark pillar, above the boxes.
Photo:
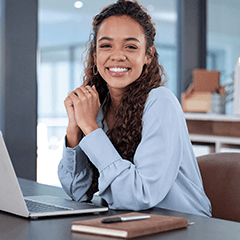
{"label": "bluish glass window right of the dark pillar, above the boxes", "polygon": [[221,85],[226,85],[226,113],[233,114],[233,75],[240,57],[240,1],[207,2],[207,68],[220,71]]}

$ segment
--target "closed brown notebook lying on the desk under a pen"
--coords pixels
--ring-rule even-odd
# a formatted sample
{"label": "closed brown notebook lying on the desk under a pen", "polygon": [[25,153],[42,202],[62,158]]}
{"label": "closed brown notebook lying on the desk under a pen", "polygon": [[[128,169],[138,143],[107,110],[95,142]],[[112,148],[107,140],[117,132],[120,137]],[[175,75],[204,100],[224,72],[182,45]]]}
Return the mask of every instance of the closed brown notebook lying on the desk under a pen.
{"label": "closed brown notebook lying on the desk under a pen", "polygon": [[137,215],[150,215],[150,218],[116,223],[102,223],[102,219],[105,219],[106,217],[95,218],[90,220],[73,222],[71,230],[73,232],[80,233],[89,233],[121,238],[133,238],[153,233],[165,232],[173,229],[184,228],[188,226],[188,219],[172,216],[133,212],[112,217],[115,218],[119,216],[127,217]]}

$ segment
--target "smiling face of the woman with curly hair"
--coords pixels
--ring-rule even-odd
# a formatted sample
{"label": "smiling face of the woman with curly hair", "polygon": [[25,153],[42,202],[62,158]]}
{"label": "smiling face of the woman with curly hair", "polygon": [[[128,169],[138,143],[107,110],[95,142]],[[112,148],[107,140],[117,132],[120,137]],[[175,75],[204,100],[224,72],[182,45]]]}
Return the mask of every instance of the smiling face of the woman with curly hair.
{"label": "smiling face of the woman with curly hair", "polygon": [[138,79],[148,63],[141,25],[128,16],[105,19],[97,34],[95,63],[111,90],[124,89]]}

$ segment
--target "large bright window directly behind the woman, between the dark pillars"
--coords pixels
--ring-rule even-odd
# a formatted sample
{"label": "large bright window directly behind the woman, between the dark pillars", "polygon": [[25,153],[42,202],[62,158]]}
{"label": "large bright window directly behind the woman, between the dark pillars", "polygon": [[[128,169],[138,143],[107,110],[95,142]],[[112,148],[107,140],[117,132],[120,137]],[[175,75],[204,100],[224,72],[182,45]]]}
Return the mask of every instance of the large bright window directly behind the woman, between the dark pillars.
{"label": "large bright window directly behind the woman, between the dark pillars", "polygon": [[[81,8],[75,8],[68,0],[39,0],[38,182],[60,185],[57,165],[68,122],[63,101],[69,91],[81,84],[82,55],[92,17],[113,2],[89,0]],[[142,0],[141,3],[156,23],[160,63],[169,78],[167,87],[176,94],[175,0]]]}

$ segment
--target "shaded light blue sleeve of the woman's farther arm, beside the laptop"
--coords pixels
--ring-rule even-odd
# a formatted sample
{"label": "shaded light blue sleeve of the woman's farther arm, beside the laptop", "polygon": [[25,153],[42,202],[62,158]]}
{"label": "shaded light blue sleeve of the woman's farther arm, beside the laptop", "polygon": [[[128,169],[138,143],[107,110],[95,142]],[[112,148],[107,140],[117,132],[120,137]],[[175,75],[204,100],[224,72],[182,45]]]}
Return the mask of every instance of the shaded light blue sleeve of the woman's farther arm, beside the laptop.
{"label": "shaded light blue sleeve of the woman's farther arm, beside the laptop", "polygon": [[93,192],[89,191],[92,184],[92,169],[85,153],[79,146],[63,146],[63,157],[58,165],[58,177],[65,192],[75,201],[91,200]]}

